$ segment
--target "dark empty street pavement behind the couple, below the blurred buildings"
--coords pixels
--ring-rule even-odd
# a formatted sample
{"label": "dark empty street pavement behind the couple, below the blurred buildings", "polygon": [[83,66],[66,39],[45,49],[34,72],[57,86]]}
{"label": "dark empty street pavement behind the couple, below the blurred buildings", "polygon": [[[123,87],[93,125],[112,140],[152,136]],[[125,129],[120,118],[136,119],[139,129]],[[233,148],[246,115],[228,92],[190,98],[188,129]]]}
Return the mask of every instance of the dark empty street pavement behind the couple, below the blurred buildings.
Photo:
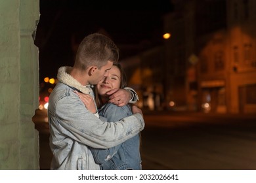
{"label": "dark empty street pavement behind the couple, below the blurred buildings", "polygon": [[[49,127],[39,119],[45,117],[33,118],[39,131],[40,169],[49,169]],[[256,169],[255,114],[144,112],[144,121],[142,169]]]}

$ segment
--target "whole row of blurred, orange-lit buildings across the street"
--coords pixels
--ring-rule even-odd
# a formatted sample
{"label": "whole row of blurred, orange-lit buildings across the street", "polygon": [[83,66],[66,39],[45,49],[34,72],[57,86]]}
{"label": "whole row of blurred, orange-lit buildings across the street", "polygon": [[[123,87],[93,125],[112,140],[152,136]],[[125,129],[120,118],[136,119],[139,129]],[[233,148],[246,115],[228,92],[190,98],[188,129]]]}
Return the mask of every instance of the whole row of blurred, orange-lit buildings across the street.
{"label": "whole row of blurred, orange-lit buildings across the street", "polygon": [[140,94],[140,105],[255,113],[256,1],[172,2],[175,10],[164,18],[171,38],[164,46],[121,61],[131,75],[129,84]]}

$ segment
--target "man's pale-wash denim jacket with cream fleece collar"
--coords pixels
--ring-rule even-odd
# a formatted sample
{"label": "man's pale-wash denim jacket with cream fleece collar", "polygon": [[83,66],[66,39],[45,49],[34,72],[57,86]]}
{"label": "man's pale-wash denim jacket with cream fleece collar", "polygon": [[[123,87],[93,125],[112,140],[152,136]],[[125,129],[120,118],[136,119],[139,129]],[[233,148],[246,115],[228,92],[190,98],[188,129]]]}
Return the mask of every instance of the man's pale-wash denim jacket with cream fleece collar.
{"label": "man's pale-wash denim jacket with cream fleece collar", "polygon": [[49,98],[51,169],[100,169],[89,146],[117,146],[137,135],[144,128],[144,120],[141,114],[134,114],[119,122],[102,122],[74,93],[77,90],[94,96],[93,90],[82,86],[69,71],[70,67],[58,69],[59,82]]}

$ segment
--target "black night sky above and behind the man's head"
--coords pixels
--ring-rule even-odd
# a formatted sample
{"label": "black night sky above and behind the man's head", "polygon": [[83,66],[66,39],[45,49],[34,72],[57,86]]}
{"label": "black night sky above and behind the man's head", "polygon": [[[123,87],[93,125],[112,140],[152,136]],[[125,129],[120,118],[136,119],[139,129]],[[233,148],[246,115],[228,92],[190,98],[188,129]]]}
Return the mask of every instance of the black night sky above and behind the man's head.
{"label": "black night sky above and behind the man's head", "polygon": [[[100,29],[120,48],[120,59],[131,56],[121,45],[152,41],[163,33],[163,15],[170,1],[40,0],[35,44],[39,47],[40,82],[56,77],[59,67],[72,66],[73,41]],[[136,53],[130,53],[136,54]]]}

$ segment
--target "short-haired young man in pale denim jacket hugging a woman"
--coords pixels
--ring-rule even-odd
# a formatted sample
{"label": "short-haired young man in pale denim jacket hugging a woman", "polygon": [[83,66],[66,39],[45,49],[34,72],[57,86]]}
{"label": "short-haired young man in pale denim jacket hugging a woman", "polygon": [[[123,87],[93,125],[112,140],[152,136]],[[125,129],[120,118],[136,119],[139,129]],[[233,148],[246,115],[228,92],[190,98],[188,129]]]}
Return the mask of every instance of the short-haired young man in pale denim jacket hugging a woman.
{"label": "short-haired young man in pale denim jacket hugging a woman", "polygon": [[[89,146],[111,148],[137,135],[144,128],[142,111],[133,106],[133,115],[119,122],[102,122],[87,110],[74,91],[94,99],[92,85],[108,76],[119,51],[108,37],[88,35],[77,50],[74,67],[60,67],[58,84],[50,95],[48,117],[51,169],[100,169]],[[117,99],[124,103],[123,99]]]}

